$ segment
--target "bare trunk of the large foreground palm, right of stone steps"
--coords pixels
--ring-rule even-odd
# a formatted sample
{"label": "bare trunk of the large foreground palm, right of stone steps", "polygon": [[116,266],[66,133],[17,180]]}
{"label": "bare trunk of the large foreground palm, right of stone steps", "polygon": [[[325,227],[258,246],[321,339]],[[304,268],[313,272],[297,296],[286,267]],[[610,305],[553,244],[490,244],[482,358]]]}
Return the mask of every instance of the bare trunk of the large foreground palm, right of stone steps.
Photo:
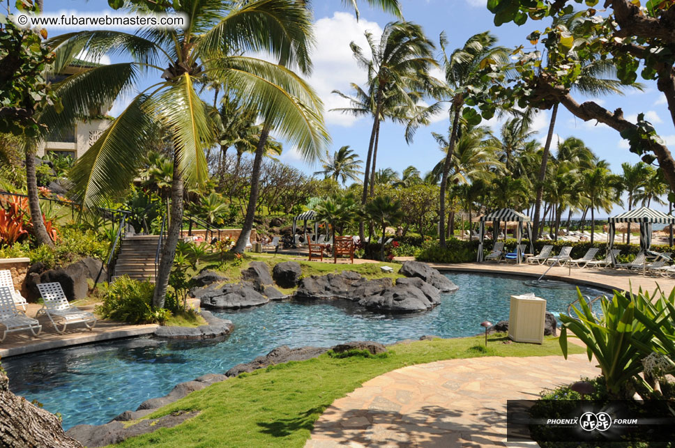
{"label": "bare trunk of the large foreground palm, right of stone steps", "polygon": [[152,306],[155,309],[164,308],[164,302],[167,298],[167,287],[169,286],[169,274],[174,265],[176,256],[176,245],[181,236],[181,227],[183,226],[183,173],[179,165],[179,158],[174,153],[174,174],[171,185],[171,213],[169,213],[169,231],[162,247],[162,257],[157,269],[155,279],[155,292],[153,293]]}

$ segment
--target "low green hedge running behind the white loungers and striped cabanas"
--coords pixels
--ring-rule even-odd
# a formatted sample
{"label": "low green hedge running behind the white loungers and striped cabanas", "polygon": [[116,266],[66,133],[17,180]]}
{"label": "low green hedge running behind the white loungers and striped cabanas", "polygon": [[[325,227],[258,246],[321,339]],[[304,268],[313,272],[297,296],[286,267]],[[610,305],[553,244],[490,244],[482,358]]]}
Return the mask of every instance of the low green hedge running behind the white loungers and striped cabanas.
{"label": "low green hedge running behind the white loungers and striped cabanas", "polygon": [[[515,250],[516,244],[517,240],[510,238],[506,240],[504,247],[506,247],[508,251],[513,251]],[[529,240],[522,240],[521,244],[529,245]],[[558,254],[563,246],[572,246],[572,258],[582,258],[582,256],[586,254],[586,251],[591,248],[591,242],[589,241],[572,242],[563,240],[537,240],[534,242],[534,252],[538,254],[545,245],[552,245],[554,254]],[[596,258],[603,258],[605,256],[607,242],[593,242],[592,247],[600,249]],[[492,241],[486,240],[483,244],[483,250],[486,255],[490,253],[490,249],[492,249]],[[625,262],[635,258],[640,247],[639,245],[633,244],[614,243],[614,249],[621,250],[619,260]],[[529,250],[529,247],[527,250]],[[651,251],[667,253],[675,252],[675,248],[668,245],[653,245]],[[431,245],[425,245],[416,258],[419,261],[430,261],[433,263],[472,263],[473,261],[476,261],[476,254],[478,254],[478,240],[467,241],[450,238],[445,249],[441,249],[438,242],[434,242]]]}

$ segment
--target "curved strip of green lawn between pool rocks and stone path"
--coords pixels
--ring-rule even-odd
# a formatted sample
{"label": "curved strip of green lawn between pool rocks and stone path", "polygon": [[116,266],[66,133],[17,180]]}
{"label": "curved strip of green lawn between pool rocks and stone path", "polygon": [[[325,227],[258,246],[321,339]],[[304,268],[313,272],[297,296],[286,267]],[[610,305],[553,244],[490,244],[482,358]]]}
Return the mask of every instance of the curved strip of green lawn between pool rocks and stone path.
{"label": "curved strip of green lawn between pool rocks and stone path", "polygon": [[[415,341],[390,347],[385,356],[331,357],[269,366],[216,383],[160,408],[149,418],[179,410],[199,415],[174,428],[161,428],[116,447],[303,447],[314,422],[342,396],[388,371],[412,364],[481,356],[560,355],[558,339],[542,345],[503,343],[483,336]],[[570,353],[583,353],[570,345]]]}

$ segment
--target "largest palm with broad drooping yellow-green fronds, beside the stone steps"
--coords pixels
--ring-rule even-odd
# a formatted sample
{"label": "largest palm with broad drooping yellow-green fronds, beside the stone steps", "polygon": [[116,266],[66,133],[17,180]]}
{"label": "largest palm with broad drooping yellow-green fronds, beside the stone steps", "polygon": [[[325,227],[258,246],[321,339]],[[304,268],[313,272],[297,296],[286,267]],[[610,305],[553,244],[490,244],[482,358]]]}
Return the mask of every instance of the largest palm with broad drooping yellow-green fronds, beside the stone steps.
{"label": "largest palm with broad drooping yellow-green fronds, beside the stone steps", "polygon": [[[196,84],[204,77],[227,82],[239,98],[246,98],[249,107],[259,111],[268,124],[259,139],[260,157],[270,128],[293,142],[308,159],[328,141],[321,102],[308,84],[283,65],[241,55],[268,51],[308,72],[312,23],[302,5],[291,0],[187,0],[176,6],[176,12],[187,15],[186,29],[142,29],[135,34],[82,31],[50,42],[56,50],[56,71],[85,48],[91,54],[117,52],[131,58],[130,62],[101,65],[66,79],[61,96],[64,109],[72,110],[71,117],[82,114],[91,98],[114,100],[135,83],[139,70],[155,70],[160,78],[132,99],[71,170],[79,199],[84,206],[96,206],[105,196],[120,194],[136,176],[150,129],[159,124],[170,133],[172,208],[153,295],[155,307],[163,307],[165,301],[183,220],[184,184],[204,183],[208,174],[204,150],[215,144],[219,134],[215,111],[199,97]],[[235,55],[231,45],[237,47]],[[59,121],[57,114],[52,115]],[[252,177],[251,196],[257,200],[259,164],[254,164]]]}

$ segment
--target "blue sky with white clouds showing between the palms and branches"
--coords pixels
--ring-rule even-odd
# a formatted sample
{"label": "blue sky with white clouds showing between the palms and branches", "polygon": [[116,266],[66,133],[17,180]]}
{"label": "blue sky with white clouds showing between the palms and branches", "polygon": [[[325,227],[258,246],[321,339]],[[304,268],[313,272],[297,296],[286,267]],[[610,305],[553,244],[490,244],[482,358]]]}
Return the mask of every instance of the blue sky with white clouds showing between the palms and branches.
{"label": "blue sky with white clouds showing between the palms and branches", "polygon": [[[494,33],[499,38],[499,45],[506,47],[527,45],[525,36],[538,27],[541,29],[545,26],[543,22],[532,21],[526,22],[523,26],[515,24],[494,26],[492,13],[485,7],[486,3],[487,0],[402,0],[405,19],[423,26],[427,36],[437,46],[439,34],[445,31],[449,49],[461,47],[470,36],[483,31]],[[361,17],[358,21],[354,11],[344,7],[340,0],[314,0],[312,6],[317,45],[312,53],[314,69],[308,80],[324,101],[326,109],[324,117],[332,137],[329,151],[333,153],[341,146],[349,145],[365,162],[372,119],[354,118],[330,111],[335,107],[347,105],[331,91],[337,89],[349,93],[350,83],[356,82],[361,86],[365,84],[366,73],[356,65],[349,43],[354,41],[362,48],[367,48],[364,32],[370,31],[377,37],[384,26],[395,18],[370,8],[363,0],[359,2]],[[109,11],[109,7],[105,0],[92,0],[86,3],[81,0],[45,0],[45,13],[62,13],[63,11],[93,13]],[[47,29],[47,31],[50,31],[50,36],[64,32],[63,29]],[[110,56],[102,62],[118,59],[116,56]],[[436,70],[435,73],[439,76],[441,72]],[[139,83],[139,88],[149,86],[151,82],[156,82],[156,80],[143,79]],[[675,150],[675,129],[669,119],[665,97],[658,92],[654,82],[644,82],[644,84],[643,92],[628,91],[623,96],[612,95],[594,100],[612,111],[621,107],[625,116],[630,120],[635,120],[637,114],[643,112],[646,120],[651,121],[669,148]],[[575,95],[575,97],[579,101],[584,99],[580,95]],[[110,114],[113,116],[119,114],[128,101],[128,98],[117,101]],[[533,128],[539,132],[536,138],[541,141],[546,137],[549,118],[550,111],[542,111],[534,121]],[[493,118],[482,124],[492,126],[493,130],[498,133],[501,123],[499,119]],[[431,133],[447,134],[448,124],[447,114],[439,114],[434,117],[431,125],[420,128],[414,141],[407,144],[404,139],[403,125],[384,123],[380,130],[377,167],[390,167],[400,172],[405,167],[414,165],[422,173],[429,171],[443,157]],[[621,139],[619,132],[600,123],[579,120],[561,107],[556,121],[554,146],[557,141],[572,136],[582,139],[598,157],[609,161],[614,172],[621,171],[622,162],[636,163],[639,161],[637,155],[630,153],[628,143]],[[291,146],[285,146],[280,159],[306,173],[311,174],[319,170],[318,162],[314,165],[307,164]],[[667,210],[667,206],[665,209]],[[625,207],[616,206],[613,213],[623,210]]]}

